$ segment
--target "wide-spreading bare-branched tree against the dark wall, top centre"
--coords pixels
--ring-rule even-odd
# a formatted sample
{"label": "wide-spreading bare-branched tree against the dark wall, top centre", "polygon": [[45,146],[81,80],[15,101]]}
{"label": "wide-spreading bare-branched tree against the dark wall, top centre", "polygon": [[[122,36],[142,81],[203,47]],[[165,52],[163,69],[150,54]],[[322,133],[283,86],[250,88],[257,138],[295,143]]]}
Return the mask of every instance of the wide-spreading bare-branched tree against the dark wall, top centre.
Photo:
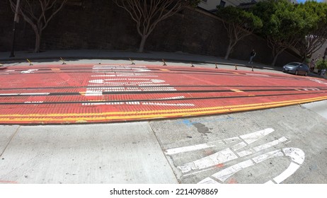
{"label": "wide-spreading bare-branched tree against the dark wall, top centre", "polygon": [[197,5],[199,0],[113,0],[124,8],[137,23],[137,33],[142,37],[139,52],[144,51],[147,38],[160,21],[173,16],[183,7]]}

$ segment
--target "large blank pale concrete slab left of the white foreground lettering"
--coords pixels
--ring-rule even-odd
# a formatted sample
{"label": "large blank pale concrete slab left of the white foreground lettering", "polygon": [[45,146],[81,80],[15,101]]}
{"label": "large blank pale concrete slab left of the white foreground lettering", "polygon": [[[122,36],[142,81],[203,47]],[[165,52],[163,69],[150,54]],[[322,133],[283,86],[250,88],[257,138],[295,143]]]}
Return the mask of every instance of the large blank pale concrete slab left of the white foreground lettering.
{"label": "large blank pale concrete slab left of the white foreground lettering", "polygon": [[176,183],[147,122],[21,127],[0,161],[18,183]]}

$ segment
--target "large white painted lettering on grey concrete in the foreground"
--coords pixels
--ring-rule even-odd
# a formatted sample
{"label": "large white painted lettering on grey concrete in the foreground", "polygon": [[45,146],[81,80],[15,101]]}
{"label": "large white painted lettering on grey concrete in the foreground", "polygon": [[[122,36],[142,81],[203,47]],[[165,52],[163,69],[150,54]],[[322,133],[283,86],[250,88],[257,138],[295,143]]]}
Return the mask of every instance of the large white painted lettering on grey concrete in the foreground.
{"label": "large white painted lettering on grey concrete in the foreground", "polygon": [[[250,134],[245,134],[241,136],[232,137],[229,139],[223,139],[219,141],[212,141],[207,144],[197,144],[195,146],[185,146],[180,148],[171,148],[166,150],[166,155],[174,155],[177,153],[184,153],[188,151],[196,151],[205,148],[212,148],[217,145],[222,144],[231,144],[235,143],[234,146],[230,148],[225,148],[222,151],[218,151],[210,156],[206,156],[204,158],[200,158],[196,161],[192,161],[190,163],[185,163],[184,165],[180,165],[177,168],[181,170],[181,172],[189,173],[192,170],[197,170],[195,173],[185,174],[186,175],[193,175],[197,173],[201,173],[206,170],[212,170],[214,165],[224,164],[226,166],[226,162],[234,161],[236,159],[240,159],[243,156],[248,156],[251,154],[256,154],[258,151],[263,151],[268,148],[272,148],[273,146],[277,146],[278,144],[285,143],[288,139],[285,136],[282,136],[280,139],[276,139],[274,141],[270,141],[265,144],[261,144],[259,146],[255,146],[252,148],[248,148],[244,151],[239,151],[241,148],[245,146],[250,146],[254,142],[262,139],[264,136],[271,134],[274,132],[274,129],[268,128],[258,132],[253,132]],[[241,142],[239,142],[241,141]],[[290,163],[289,167],[280,173],[277,177],[274,177],[272,180],[269,180],[266,183],[281,183],[282,181],[286,180],[287,177],[291,176],[297,169],[302,165],[304,162],[305,154],[299,148],[282,148],[275,151],[270,151],[264,153],[260,156],[253,157],[251,159],[241,161],[236,163],[235,165],[231,165],[228,168],[224,168],[223,170],[219,170],[217,173],[211,175],[211,177],[206,177],[205,179],[198,182],[199,184],[213,184],[213,183],[221,183],[225,182],[229,177],[238,173],[239,171],[266,161],[270,158],[275,157],[287,157],[291,158],[292,162]]]}

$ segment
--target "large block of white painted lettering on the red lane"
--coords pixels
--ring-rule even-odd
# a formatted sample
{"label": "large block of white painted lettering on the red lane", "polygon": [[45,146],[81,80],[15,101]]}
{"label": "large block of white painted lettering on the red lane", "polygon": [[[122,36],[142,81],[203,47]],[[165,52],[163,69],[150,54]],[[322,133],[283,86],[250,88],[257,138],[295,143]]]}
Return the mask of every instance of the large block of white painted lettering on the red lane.
{"label": "large block of white painted lettering on the red lane", "polygon": [[[110,70],[108,70],[110,69]],[[129,71],[127,73],[127,71]],[[132,71],[132,72],[130,72]],[[88,88],[86,88],[85,96],[102,96],[103,92],[115,92],[115,91],[139,91],[139,92],[147,92],[147,91],[177,91],[176,88],[173,88],[169,84],[161,84],[166,81],[161,79],[154,78],[141,78],[141,77],[150,77],[147,71],[151,71],[147,69],[146,66],[112,66],[112,65],[101,65],[101,66],[93,66],[93,72],[105,72],[110,74],[102,74],[102,75],[91,75],[92,78],[88,81]],[[134,72],[142,72],[142,73],[134,73]],[[134,78],[120,78],[120,77],[134,77]],[[155,76],[158,77],[158,76]],[[117,86],[117,87],[105,87],[107,84],[109,86]],[[91,86],[102,86],[93,88]],[[125,86],[137,86],[128,88]],[[145,86],[145,87],[144,87]],[[168,86],[168,87],[161,87]],[[176,97],[171,98],[158,98],[156,100],[174,100],[174,99],[182,99],[185,98],[183,95],[178,95]],[[130,101],[130,102],[122,102],[122,103],[83,103],[82,105],[152,105],[152,106],[178,106],[178,107],[193,107],[195,106],[192,103],[159,103],[159,102],[140,102],[140,101]]]}

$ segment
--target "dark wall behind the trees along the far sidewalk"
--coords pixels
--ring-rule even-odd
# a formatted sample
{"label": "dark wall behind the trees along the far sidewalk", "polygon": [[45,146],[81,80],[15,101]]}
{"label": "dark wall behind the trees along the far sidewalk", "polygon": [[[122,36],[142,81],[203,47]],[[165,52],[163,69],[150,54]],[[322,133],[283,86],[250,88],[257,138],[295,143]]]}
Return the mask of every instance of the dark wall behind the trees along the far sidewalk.
{"label": "dark wall behind the trees along the far sidewalk", "polygon": [[[141,40],[128,13],[112,1],[81,0],[67,4],[44,30],[41,50],[103,49],[136,51]],[[0,51],[10,51],[13,11],[7,0],[0,0]],[[16,50],[33,51],[35,35],[21,18],[17,28]],[[188,52],[224,57],[228,38],[219,18],[199,9],[185,9],[159,23],[149,36],[146,51]],[[256,62],[270,63],[271,50],[265,40],[250,35],[241,40],[231,59],[245,59],[256,49]],[[285,52],[277,64],[297,61]]]}

